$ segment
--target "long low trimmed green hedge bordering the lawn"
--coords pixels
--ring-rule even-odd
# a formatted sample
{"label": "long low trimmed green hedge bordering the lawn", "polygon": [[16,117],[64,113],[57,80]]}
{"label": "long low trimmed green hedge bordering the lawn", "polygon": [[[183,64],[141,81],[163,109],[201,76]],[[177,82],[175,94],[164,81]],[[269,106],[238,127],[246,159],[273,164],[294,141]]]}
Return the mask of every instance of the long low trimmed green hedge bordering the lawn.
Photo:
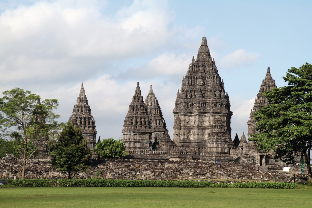
{"label": "long low trimmed green hedge bordering the lawn", "polygon": [[[8,179],[8,183],[18,187],[53,187],[56,180],[45,179]],[[280,182],[248,182],[248,183],[212,183],[208,181],[140,181],[140,180],[109,180],[109,179],[59,179],[58,187],[183,187],[183,188],[274,188],[293,189],[298,187],[296,183]]]}

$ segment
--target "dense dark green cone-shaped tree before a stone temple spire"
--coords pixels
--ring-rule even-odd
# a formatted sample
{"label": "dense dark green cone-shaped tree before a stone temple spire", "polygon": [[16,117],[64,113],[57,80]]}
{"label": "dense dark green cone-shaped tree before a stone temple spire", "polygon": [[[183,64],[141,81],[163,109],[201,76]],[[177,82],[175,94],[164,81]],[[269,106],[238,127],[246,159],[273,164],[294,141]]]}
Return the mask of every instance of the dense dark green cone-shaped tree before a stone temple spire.
{"label": "dense dark green cone-shaped tree before a stone temple spire", "polygon": [[90,169],[89,160],[92,157],[87,145],[81,129],[70,122],[65,123],[50,153],[52,167],[66,171],[68,179],[72,179],[78,171],[87,171]]}

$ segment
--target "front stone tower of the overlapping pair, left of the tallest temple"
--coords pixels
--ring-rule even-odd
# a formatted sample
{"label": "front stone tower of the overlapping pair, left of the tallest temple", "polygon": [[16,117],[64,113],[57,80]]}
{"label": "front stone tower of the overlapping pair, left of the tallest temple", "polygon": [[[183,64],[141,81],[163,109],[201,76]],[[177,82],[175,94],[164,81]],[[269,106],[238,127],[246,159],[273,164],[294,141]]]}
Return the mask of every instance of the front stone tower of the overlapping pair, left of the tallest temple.
{"label": "front stone tower of the overlapping pair, left of the tallest temple", "polygon": [[143,154],[142,151],[149,150],[151,127],[139,82],[132,97],[132,102],[129,105],[128,113],[124,119],[122,133],[123,141],[127,147],[126,151],[129,154]]}

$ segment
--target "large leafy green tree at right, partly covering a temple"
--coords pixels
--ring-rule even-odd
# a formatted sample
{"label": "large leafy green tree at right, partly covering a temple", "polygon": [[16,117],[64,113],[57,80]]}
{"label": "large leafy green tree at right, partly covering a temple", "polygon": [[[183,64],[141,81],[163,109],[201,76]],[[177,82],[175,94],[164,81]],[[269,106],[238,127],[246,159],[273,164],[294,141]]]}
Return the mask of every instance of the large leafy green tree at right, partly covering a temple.
{"label": "large leafy green tree at right, partly covering a temple", "polygon": [[301,155],[312,183],[312,65],[291,67],[283,79],[287,86],[263,92],[270,105],[256,111],[260,133],[250,140],[258,143],[258,149],[273,149],[275,159],[281,158],[287,164],[294,163],[295,156]]}

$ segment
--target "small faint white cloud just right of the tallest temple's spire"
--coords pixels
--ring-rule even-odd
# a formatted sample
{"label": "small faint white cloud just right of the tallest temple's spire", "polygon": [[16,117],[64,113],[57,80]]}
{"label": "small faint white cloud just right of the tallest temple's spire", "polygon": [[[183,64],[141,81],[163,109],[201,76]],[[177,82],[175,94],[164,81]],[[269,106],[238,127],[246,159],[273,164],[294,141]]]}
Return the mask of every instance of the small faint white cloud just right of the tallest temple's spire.
{"label": "small faint white cloud just right of the tallest temple's spire", "polygon": [[222,57],[219,65],[222,67],[241,67],[255,62],[261,57],[260,53],[246,52],[244,49],[238,49]]}

